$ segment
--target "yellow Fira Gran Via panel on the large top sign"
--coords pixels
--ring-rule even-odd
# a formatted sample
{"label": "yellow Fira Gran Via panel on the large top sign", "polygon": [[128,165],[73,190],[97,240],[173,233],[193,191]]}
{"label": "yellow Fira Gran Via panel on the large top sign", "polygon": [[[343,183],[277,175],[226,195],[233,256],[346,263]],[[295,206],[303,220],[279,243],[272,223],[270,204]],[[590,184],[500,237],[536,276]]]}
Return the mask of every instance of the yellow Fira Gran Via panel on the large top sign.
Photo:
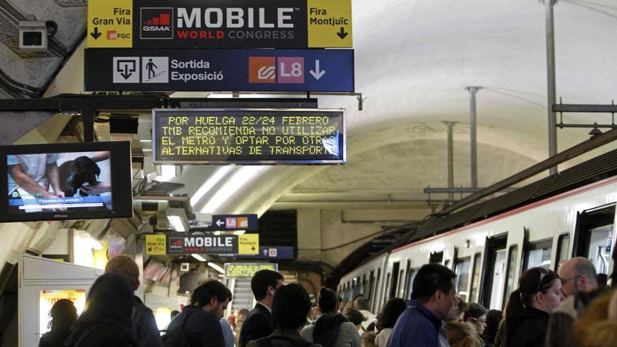
{"label": "yellow Fira Gran Via panel on the large top sign", "polygon": [[88,47],[133,47],[133,1],[88,1]]}

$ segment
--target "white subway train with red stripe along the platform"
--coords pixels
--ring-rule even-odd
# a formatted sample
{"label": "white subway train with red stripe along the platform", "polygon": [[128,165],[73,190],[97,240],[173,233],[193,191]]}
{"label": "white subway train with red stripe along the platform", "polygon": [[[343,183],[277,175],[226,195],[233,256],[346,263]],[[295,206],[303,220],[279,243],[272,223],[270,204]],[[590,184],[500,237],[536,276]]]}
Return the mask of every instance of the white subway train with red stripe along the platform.
{"label": "white subway train with red stripe along the platform", "polygon": [[617,151],[611,151],[420,224],[416,234],[431,236],[374,254],[343,275],[337,290],[344,301],[364,294],[379,312],[392,297],[411,297],[420,266],[438,263],[456,273],[462,299],[503,310],[527,268],[557,271],[571,257],[587,257],[597,273],[611,274],[616,205]]}

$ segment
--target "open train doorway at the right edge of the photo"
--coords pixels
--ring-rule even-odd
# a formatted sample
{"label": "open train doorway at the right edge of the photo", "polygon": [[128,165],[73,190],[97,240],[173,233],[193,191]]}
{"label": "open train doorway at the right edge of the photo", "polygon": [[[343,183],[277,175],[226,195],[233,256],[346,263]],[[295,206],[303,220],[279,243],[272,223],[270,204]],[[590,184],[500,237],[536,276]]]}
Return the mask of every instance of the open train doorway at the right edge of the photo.
{"label": "open train doorway at the right edge of the photo", "polygon": [[615,204],[578,213],[572,256],[588,258],[598,274],[609,275],[614,225]]}

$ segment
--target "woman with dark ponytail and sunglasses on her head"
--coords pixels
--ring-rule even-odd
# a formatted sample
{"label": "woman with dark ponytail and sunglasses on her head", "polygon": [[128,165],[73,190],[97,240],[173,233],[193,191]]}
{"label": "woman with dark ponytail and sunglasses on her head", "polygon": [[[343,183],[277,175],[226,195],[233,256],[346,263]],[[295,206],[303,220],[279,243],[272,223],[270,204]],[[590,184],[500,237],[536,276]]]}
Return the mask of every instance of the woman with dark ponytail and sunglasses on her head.
{"label": "woman with dark ponytail and sunglasses on her head", "polygon": [[564,300],[562,282],[554,271],[529,268],[506,307],[506,347],[542,347],[549,314]]}

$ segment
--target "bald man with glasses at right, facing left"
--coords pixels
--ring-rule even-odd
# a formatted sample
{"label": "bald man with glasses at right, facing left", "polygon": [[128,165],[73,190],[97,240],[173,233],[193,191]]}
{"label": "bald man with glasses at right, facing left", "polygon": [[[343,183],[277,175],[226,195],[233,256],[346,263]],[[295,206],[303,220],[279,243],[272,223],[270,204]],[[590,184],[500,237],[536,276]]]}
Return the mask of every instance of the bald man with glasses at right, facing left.
{"label": "bald man with glasses at right, facing left", "polygon": [[550,314],[545,346],[574,347],[572,324],[585,313],[590,297],[597,289],[595,266],[583,257],[566,261],[557,271],[562,279],[562,292],[566,299]]}

